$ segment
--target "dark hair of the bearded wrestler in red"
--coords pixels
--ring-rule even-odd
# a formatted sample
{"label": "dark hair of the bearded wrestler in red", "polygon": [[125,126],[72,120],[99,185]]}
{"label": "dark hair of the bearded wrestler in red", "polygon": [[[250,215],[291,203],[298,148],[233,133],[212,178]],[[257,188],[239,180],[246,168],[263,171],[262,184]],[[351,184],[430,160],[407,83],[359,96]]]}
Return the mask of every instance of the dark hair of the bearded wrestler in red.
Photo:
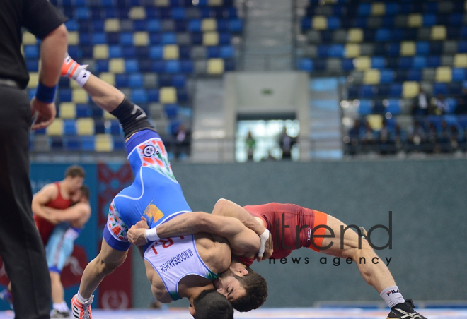
{"label": "dark hair of the bearded wrestler in red", "polygon": [[233,308],[241,312],[260,308],[267,298],[266,279],[250,267],[246,267],[246,270],[248,270],[248,275],[243,277],[233,275],[246,290],[245,296],[232,302]]}

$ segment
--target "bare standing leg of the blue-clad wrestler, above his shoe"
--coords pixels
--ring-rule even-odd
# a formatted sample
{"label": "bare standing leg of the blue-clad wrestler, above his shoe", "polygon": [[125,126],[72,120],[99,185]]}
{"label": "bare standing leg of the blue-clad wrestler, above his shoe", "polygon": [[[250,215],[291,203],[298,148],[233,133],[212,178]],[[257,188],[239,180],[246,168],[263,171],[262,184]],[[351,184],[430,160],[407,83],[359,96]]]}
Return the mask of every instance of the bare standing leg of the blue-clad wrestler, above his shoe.
{"label": "bare standing leg of the blue-clad wrestler, above his shoe", "polygon": [[79,294],[84,299],[91,298],[104,277],[122,265],[127,258],[127,253],[128,251],[117,251],[117,249],[110,247],[103,239],[100,253],[91,263],[88,263],[83,272],[81,284],[79,285]]}

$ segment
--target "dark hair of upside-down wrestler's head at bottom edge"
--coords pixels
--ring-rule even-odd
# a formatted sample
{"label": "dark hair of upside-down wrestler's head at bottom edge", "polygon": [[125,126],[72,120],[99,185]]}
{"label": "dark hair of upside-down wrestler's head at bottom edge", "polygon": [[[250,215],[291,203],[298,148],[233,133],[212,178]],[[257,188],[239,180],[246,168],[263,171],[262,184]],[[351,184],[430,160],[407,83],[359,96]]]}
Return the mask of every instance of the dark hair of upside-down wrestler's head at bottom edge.
{"label": "dark hair of upside-down wrestler's head at bottom edge", "polygon": [[215,289],[202,291],[193,301],[195,319],[233,319],[233,306]]}

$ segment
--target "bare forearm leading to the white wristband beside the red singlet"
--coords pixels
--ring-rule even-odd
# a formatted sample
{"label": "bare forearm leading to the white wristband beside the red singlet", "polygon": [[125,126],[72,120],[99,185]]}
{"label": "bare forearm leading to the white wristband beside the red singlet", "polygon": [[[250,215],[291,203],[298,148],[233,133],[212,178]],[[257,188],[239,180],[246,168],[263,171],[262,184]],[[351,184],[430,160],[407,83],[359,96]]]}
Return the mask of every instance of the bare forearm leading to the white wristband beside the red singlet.
{"label": "bare forearm leading to the white wristband beside the red singlet", "polygon": [[212,210],[212,215],[236,218],[247,228],[255,231],[258,236],[263,234],[266,230],[264,225],[250,215],[245,208],[224,198],[217,200],[217,203],[214,205],[214,209]]}

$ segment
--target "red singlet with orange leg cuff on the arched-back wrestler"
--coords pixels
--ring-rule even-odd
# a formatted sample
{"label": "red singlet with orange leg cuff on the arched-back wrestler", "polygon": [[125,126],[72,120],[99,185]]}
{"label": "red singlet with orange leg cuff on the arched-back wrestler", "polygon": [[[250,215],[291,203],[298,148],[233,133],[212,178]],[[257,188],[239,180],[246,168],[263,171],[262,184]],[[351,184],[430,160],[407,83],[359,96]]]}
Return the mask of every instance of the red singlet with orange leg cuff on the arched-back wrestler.
{"label": "red singlet with orange leg cuff on the arched-back wrestler", "polygon": [[[274,253],[271,258],[287,257],[293,250],[301,247],[318,251],[311,244],[311,229],[327,223],[328,215],[325,213],[299,205],[278,203],[244,206],[243,208],[253,217],[262,219],[265,227],[271,232],[274,244]],[[324,232],[325,228],[320,227],[316,229],[313,236],[324,235]],[[299,235],[298,241],[297,234]],[[316,246],[321,247],[323,238],[313,237],[313,241]],[[244,258],[241,259],[242,262],[247,261]]]}

